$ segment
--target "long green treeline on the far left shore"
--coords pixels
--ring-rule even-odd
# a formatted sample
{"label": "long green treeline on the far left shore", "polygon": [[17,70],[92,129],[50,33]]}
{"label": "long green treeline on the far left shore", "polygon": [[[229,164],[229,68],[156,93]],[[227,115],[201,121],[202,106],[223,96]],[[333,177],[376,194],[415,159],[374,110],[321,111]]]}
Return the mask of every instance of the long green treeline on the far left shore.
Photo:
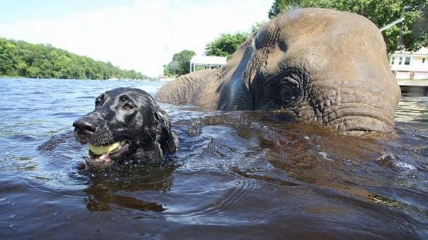
{"label": "long green treeline on the far left shore", "polygon": [[110,62],[52,47],[0,38],[0,76],[44,79],[149,79],[134,70],[123,70]]}

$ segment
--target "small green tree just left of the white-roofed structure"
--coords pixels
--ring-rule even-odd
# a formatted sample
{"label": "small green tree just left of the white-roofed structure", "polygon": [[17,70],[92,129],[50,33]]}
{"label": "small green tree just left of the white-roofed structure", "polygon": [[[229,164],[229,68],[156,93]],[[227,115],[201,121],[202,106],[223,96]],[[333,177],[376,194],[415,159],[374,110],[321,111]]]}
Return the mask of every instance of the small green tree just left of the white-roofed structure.
{"label": "small green tree just left of the white-roofed structure", "polygon": [[163,73],[168,76],[188,74],[190,72],[190,59],[195,55],[195,52],[190,50],[175,53],[171,62],[163,65]]}

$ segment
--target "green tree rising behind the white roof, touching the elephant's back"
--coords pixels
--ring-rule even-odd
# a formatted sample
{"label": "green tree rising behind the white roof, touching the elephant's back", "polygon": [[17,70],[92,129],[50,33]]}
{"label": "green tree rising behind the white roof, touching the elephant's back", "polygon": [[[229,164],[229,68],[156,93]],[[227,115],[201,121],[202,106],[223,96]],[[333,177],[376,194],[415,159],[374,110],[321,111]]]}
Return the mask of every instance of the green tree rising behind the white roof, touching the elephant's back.
{"label": "green tree rising behind the white roof, touching the elephant's back", "polygon": [[233,52],[248,38],[248,33],[221,34],[219,38],[209,42],[205,47],[207,56],[231,57]]}

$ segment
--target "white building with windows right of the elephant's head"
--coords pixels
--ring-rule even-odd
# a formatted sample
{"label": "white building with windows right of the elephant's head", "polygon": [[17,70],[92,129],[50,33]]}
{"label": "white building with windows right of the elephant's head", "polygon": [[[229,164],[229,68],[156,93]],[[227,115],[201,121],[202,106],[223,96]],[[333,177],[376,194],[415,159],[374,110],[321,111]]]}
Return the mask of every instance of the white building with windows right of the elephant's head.
{"label": "white building with windows right of the elephant's head", "polygon": [[395,52],[390,64],[397,79],[428,79],[428,48],[417,52]]}

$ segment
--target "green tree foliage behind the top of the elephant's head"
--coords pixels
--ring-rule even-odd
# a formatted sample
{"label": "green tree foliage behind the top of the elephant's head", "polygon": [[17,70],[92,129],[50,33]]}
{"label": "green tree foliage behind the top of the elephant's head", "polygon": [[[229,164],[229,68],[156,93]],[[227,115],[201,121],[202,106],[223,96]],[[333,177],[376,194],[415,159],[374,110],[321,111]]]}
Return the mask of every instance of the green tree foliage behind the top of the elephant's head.
{"label": "green tree foliage behind the top of the elephant's head", "polygon": [[[427,0],[275,0],[268,16],[273,18],[295,6],[334,8],[365,16],[379,28],[404,17],[403,45],[405,49],[415,51],[428,47],[427,25],[423,25],[428,14],[427,4]],[[382,32],[388,52],[394,52],[399,47],[400,26],[399,23]]]}

